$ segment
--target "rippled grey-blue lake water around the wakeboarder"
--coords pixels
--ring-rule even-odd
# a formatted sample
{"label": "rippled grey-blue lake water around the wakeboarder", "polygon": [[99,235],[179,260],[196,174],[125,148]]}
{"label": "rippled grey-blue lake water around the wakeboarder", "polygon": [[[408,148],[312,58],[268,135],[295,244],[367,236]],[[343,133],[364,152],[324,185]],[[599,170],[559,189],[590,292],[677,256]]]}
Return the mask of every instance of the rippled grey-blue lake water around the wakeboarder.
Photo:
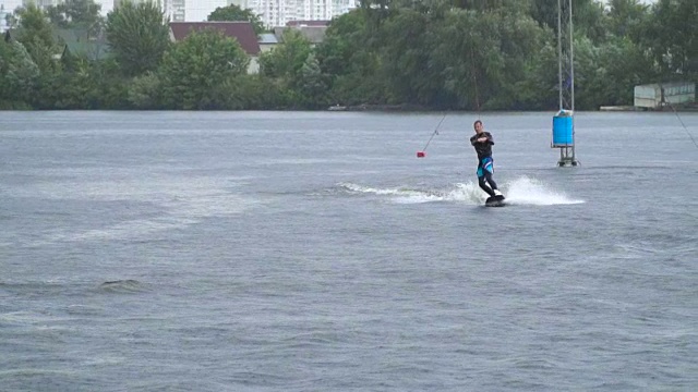
{"label": "rippled grey-blue lake water around the wakeboarder", "polygon": [[0,390],[698,390],[698,148],[552,115],[1,112]]}

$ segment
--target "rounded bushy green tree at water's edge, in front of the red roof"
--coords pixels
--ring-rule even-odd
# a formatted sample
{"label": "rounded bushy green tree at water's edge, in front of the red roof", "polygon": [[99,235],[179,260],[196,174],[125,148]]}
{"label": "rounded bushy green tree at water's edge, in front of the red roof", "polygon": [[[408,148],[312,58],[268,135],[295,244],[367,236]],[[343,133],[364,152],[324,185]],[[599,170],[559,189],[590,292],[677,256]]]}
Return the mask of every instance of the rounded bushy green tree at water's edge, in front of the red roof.
{"label": "rounded bushy green tree at water's edge, in front of the red roof", "polygon": [[249,63],[240,44],[221,32],[192,33],[165,54],[158,70],[164,102],[174,109],[225,109]]}

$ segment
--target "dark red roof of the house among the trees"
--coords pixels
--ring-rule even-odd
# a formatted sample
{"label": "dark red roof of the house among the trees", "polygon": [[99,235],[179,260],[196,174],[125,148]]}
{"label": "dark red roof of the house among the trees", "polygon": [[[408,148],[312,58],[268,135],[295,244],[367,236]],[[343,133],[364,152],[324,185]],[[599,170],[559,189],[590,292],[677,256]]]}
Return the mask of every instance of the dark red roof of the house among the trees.
{"label": "dark red roof of the house among the trees", "polygon": [[260,41],[250,22],[170,22],[171,37],[176,41],[184,39],[191,32],[204,28],[215,28],[221,30],[227,37],[236,38],[250,56],[260,53]]}

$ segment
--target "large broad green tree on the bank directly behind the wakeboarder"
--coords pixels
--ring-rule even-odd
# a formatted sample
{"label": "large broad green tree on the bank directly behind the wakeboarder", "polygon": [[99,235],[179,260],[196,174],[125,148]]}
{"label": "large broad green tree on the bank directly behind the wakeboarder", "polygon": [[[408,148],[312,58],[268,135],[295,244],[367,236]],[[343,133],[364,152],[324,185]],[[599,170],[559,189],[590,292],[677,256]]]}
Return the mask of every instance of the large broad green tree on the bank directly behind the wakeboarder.
{"label": "large broad green tree on the bank directly behind the wakeboarder", "polygon": [[517,85],[547,37],[528,14],[516,8],[454,10],[437,34],[432,61],[443,68],[444,88],[458,108],[518,109]]}

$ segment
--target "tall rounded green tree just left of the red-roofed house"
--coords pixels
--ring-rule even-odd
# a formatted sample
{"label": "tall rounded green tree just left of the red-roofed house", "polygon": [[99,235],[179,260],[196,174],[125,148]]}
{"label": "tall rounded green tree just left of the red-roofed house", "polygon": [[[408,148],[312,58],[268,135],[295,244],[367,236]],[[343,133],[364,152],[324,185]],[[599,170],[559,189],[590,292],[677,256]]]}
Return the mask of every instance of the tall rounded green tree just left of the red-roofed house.
{"label": "tall rounded green tree just left of the red-roofed house", "polygon": [[169,25],[156,3],[117,7],[107,15],[107,39],[122,71],[140,75],[154,71],[170,45]]}

